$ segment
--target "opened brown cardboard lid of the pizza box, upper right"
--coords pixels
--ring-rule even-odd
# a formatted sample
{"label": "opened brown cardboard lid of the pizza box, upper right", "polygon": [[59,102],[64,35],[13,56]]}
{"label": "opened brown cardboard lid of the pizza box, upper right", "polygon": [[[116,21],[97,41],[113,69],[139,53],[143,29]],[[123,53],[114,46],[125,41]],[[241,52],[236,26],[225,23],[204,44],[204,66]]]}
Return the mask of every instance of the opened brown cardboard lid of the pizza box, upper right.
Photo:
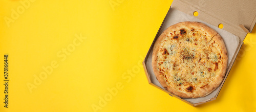
{"label": "opened brown cardboard lid of the pizza box, upper right", "polygon": [[216,27],[223,24],[223,30],[237,35],[242,41],[256,23],[256,1],[251,0],[175,0],[172,8],[192,16],[197,11],[197,18]]}

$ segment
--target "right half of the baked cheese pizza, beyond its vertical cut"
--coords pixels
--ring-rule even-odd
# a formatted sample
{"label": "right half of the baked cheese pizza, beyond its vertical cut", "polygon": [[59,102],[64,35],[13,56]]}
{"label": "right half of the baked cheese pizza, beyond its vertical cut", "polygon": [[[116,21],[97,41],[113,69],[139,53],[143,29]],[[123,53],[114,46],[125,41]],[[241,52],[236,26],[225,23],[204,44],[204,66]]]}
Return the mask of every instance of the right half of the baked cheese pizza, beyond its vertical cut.
{"label": "right half of the baked cheese pizza, beyond its vertical cut", "polygon": [[[208,26],[191,22],[188,24],[189,53],[191,55],[191,79],[194,80],[194,97],[209,94],[222,82],[225,76],[226,66],[221,62],[227,62],[227,56],[221,57],[221,51],[226,51],[221,36]],[[215,42],[223,43],[221,46]],[[224,59],[223,61],[221,59]],[[226,63],[224,63],[226,64]],[[207,91],[208,93],[205,93]]]}

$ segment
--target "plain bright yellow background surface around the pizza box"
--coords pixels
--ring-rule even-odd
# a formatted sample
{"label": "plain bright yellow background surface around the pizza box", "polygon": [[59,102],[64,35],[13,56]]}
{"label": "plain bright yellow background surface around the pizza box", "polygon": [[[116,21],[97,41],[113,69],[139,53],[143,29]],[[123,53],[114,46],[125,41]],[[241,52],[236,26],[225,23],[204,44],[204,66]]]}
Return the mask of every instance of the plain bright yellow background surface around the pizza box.
{"label": "plain bright yellow background surface around the pizza box", "polygon": [[[256,111],[255,28],[217,100],[193,107],[148,84],[141,65],[172,1],[33,0],[26,8],[24,1],[0,1],[0,70],[8,54],[10,80],[5,108],[0,75],[0,111]],[[76,34],[87,38],[64,54],[79,42]],[[52,62],[57,67],[35,85]]]}

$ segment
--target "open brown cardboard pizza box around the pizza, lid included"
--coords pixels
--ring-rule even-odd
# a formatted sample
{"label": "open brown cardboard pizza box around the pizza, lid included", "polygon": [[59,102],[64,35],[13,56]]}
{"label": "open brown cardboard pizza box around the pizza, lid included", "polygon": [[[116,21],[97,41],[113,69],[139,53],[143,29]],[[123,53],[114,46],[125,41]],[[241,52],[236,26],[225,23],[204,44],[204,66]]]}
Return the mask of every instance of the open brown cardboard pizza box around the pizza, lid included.
{"label": "open brown cardboard pizza box around the pizza, lid included", "polygon": [[[192,106],[215,100],[232,68],[243,40],[256,23],[256,1],[205,1],[205,0],[174,0],[159,28],[150,50],[142,62],[148,83],[161,89],[170,96],[176,97]],[[198,12],[198,16],[194,16]],[[159,35],[169,26],[182,21],[199,21],[216,30],[223,38],[228,52],[228,66],[225,78],[214,92],[201,98],[180,98],[166,91],[156,79],[152,69],[153,46]],[[223,28],[218,26],[222,24]]]}

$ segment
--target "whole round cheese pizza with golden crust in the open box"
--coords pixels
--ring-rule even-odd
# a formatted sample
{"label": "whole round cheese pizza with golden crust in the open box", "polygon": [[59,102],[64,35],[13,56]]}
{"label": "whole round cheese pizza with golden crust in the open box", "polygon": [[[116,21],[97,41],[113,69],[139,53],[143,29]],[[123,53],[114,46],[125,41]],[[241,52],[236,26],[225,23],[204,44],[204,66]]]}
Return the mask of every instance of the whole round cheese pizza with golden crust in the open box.
{"label": "whole round cheese pizza with golden crust in the open box", "polygon": [[205,24],[185,21],[167,28],[153,48],[154,74],[166,91],[181,98],[204,97],[223,81],[227,50]]}

